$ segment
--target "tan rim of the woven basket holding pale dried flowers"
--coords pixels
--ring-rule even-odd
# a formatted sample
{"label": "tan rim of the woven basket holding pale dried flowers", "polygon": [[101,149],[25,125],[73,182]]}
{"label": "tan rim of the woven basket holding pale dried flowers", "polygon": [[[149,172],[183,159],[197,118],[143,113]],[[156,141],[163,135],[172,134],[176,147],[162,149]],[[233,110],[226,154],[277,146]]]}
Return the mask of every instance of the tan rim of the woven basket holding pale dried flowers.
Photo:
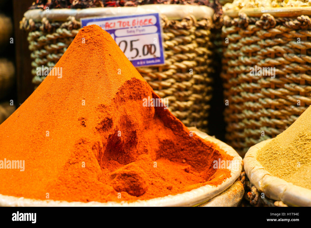
{"label": "tan rim of the woven basket holding pale dried flowers", "polygon": [[264,13],[269,13],[274,17],[297,17],[301,15],[311,15],[311,6],[305,7],[257,7],[244,8],[240,10],[226,10],[224,15],[230,17],[238,17],[240,13],[245,13],[247,16],[260,17]]}

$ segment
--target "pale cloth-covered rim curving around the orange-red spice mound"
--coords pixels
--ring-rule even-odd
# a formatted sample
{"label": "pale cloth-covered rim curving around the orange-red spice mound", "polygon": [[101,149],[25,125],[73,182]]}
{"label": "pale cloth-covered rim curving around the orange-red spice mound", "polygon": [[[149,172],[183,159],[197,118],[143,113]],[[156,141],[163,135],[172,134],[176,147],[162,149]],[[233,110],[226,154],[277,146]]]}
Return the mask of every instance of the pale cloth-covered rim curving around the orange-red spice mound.
{"label": "pale cloth-covered rim curving around the orange-red spice mound", "polygon": [[197,189],[193,189],[188,192],[184,192],[177,195],[168,195],[165,197],[159,197],[149,200],[137,200],[132,203],[127,202],[67,202],[67,201],[54,201],[54,200],[36,200],[26,199],[23,197],[7,196],[0,194],[0,206],[26,206],[26,207],[40,207],[40,206],[195,206],[212,199],[216,195],[228,189],[240,176],[242,171],[242,158],[239,154],[229,145],[224,142],[207,135],[204,132],[199,131],[195,127],[189,127],[190,131],[196,133],[199,137],[212,141],[217,144],[220,149],[223,149],[227,154],[231,155],[233,160],[238,161],[239,168],[231,170],[231,177],[227,178],[222,184],[218,186],[205,185]]}

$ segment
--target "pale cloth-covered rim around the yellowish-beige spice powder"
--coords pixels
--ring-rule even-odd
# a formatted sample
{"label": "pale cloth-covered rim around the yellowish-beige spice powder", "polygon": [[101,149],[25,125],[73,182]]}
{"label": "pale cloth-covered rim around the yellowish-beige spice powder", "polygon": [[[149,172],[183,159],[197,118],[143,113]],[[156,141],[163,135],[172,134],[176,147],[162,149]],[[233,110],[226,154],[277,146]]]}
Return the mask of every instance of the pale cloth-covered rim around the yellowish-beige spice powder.
{"label": "pale cloth-covered rim around the yellowish-beige spice powder", "polygon": [[311,190],[273,176],[258,162],[257,153],[273,139],[261,141],[249,148],[243,159],[249,181],[270,199],[281,200],[293,206],[311,206]]}

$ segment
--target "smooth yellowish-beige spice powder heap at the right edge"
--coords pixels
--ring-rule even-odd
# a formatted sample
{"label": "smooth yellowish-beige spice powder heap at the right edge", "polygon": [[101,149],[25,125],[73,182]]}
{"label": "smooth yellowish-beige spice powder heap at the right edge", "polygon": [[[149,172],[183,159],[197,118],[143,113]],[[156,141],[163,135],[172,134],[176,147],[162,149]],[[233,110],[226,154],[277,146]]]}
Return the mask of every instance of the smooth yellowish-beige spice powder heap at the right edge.
{"label": "smooth yellowish-beige spice powder heap at the right edge", "polygon": [[311,107],[257,154],[273,176],[311,189]]}

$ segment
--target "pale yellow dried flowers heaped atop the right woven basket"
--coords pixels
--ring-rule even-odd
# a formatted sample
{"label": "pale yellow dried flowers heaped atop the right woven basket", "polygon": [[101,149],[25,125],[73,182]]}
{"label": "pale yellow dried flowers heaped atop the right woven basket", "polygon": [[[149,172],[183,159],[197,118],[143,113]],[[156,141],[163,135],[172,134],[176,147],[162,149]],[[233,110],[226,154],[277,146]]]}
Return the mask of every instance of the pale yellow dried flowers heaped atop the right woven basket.
{"label": "pale yellow dried flowers heaped atop the right woven basket", "polygon": [[311,0],[234,0],[223,6],[223,10],[239,10],[258,7],[304,7],[311,6]]}

